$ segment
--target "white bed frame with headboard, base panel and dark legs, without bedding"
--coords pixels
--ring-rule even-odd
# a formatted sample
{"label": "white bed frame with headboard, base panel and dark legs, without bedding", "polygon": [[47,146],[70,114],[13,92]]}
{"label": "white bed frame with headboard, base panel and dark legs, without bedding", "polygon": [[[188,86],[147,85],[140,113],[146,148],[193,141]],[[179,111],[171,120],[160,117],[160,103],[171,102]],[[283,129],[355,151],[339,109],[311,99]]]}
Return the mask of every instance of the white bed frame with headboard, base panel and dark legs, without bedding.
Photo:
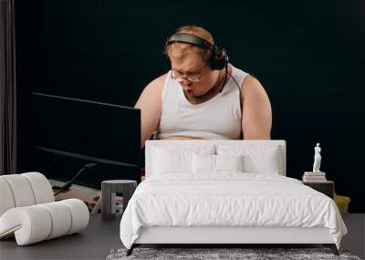
{"label": "white bed frame with headboard, base panel and dark legs, without bedding", "polygon": [[[202,145],[224,144],[265,147],[277,146],[281,150],[281,167],[279,174],[286,176],[286,142],[285,140],[148,140],[146,143],[146,178],[152,172],[151,151],[156,146],[172,145]],[[334,255],[339,255],[338,249],[328,228],[300,228],[300,227],[180,227],[180,226],[154,226],[143,227],[139,238],[127,251],[130,255],[133,248],[141,244],[211,244],[216,247],[224,245],[242,244],[322,244],[332,250]]]}

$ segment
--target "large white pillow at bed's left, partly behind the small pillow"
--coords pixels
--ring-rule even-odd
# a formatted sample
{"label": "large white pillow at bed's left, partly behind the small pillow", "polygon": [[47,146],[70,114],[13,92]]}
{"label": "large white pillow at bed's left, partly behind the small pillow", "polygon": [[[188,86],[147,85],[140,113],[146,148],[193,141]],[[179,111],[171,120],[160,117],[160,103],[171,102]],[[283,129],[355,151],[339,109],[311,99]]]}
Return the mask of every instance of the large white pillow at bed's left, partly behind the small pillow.
{"label": "large white pillow at bed's left, partly behind the small pillow", "polygon": [[180,147],[180,149],[172,146],[156,147],[152,151],[152,171],[154,174],[192,173],[193,154],[212,155],[214,146]]}

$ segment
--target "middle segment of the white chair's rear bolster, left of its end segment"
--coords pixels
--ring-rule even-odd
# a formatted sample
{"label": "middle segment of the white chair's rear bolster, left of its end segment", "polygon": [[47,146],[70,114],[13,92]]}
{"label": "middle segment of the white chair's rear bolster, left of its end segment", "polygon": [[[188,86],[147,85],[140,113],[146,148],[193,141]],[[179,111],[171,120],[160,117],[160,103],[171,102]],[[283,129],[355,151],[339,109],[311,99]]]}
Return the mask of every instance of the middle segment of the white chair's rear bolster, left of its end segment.
{"label": "middle segment of the white chair's rear bolster, left of its end segment", "polygon": [[30,206],[36,203],[32,187],[26,177],[19,174],[9,174],[2,175],[1,179],[9,185],[16,207]]}

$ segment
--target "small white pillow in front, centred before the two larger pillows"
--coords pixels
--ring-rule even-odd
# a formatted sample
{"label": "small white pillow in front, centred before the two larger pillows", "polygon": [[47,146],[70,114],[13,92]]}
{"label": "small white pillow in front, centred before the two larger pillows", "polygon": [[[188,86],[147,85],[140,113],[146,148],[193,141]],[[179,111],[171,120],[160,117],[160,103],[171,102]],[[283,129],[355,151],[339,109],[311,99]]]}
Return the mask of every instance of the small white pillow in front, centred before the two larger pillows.
{"label": "small white pillow in front, centred before the two larger pillows", "polygon": [[239,155],[202,155],[193,153],[193,173],[243,172],[244,162]]}

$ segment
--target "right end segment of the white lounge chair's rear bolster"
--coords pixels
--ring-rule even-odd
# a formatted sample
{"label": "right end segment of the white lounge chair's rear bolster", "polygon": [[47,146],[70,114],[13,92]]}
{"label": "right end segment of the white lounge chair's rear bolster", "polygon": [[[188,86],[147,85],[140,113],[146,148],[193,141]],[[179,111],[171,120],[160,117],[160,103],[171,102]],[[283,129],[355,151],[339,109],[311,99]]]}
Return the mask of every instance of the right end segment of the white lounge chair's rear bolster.
{"label": "right end segment of the white lounge chair's rear bolster", "polygon": [[39,172],[26,172],[20,175],[26,177],[27,181],[30,183],[36,199],[36,204],[52,203],[55,201],[51,184],[48,182],[45,175]]}

